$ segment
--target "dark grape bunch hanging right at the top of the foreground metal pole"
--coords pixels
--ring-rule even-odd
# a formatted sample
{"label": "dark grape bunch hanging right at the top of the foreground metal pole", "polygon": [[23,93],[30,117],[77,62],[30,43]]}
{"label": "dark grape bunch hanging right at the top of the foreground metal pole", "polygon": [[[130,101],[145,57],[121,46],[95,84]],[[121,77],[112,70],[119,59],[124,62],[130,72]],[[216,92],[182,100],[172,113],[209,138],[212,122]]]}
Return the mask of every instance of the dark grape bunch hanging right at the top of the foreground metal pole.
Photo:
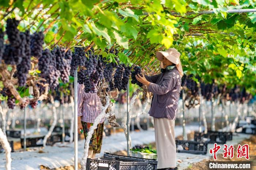
{"label": "dark grape bunch hanging right at the top of the foreground metal pole", "polygon": [[75,51],[72,55],[70,75],[74,76],[74,72],[78,66],[84,66],[86,57],[84,53],[84,47],[75,47]]}

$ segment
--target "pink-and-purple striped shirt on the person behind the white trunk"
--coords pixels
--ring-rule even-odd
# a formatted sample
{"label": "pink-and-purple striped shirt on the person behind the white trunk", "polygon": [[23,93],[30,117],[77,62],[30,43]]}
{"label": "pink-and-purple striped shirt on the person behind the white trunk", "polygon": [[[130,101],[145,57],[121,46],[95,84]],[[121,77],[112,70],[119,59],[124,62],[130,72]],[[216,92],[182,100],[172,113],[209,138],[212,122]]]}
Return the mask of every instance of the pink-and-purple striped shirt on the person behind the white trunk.
{"label": "pink-and-purple striped shirt on the person behind the white trunk", "polygon": [[[96,117],[101,113],[101,101],[97,93],[84,92],[84,85],[78,84],[78,116],[87,123],[94,123]],[[101,123],[104,122],[104,119]]]}

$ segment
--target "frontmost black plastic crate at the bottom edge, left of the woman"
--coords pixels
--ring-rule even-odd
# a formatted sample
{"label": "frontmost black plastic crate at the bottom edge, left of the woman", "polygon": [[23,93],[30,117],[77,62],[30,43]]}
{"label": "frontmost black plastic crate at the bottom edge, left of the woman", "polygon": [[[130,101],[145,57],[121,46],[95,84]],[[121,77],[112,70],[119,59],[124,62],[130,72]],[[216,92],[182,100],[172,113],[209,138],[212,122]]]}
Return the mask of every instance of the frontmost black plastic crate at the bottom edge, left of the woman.
{"label": "frontmost black plastic crate at the bottom edge, left of the woman", "polygon": [[125,158],[87,158],[86,170],[147,170],[147,161],[131,161]]}

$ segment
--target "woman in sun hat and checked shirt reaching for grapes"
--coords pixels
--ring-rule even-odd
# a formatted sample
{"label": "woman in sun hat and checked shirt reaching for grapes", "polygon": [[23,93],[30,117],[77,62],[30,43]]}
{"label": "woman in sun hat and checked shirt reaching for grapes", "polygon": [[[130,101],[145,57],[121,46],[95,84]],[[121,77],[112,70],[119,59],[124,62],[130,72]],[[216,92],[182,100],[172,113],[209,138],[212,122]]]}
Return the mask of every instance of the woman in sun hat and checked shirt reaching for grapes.
{"label": "woman in sun hat and checked shirt reaching for grapes", "polygon": [[183,76],[180,53],[171,48],[158,51],[156,55],[161,61],[161,74],[154,76],[138,74],[136,79],[148,86],[148,91],[154,94],[149,114],[154,117],[158,169],[177,170],[174,122]]}

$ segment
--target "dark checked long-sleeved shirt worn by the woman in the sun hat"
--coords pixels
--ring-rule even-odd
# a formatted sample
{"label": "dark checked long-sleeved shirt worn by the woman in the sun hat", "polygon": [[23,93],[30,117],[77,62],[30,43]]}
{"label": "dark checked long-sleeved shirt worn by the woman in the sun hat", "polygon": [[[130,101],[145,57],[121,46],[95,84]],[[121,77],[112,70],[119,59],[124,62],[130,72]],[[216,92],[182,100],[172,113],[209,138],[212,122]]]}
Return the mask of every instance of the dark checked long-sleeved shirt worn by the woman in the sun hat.
{"label": "dark checked long-sleeved shirt worn by the woman in the sun hat", "polygon": [[150,116],[175,120],[180,98],[181,76],[177,68],[154,76],[145,76],[152,92]]}

